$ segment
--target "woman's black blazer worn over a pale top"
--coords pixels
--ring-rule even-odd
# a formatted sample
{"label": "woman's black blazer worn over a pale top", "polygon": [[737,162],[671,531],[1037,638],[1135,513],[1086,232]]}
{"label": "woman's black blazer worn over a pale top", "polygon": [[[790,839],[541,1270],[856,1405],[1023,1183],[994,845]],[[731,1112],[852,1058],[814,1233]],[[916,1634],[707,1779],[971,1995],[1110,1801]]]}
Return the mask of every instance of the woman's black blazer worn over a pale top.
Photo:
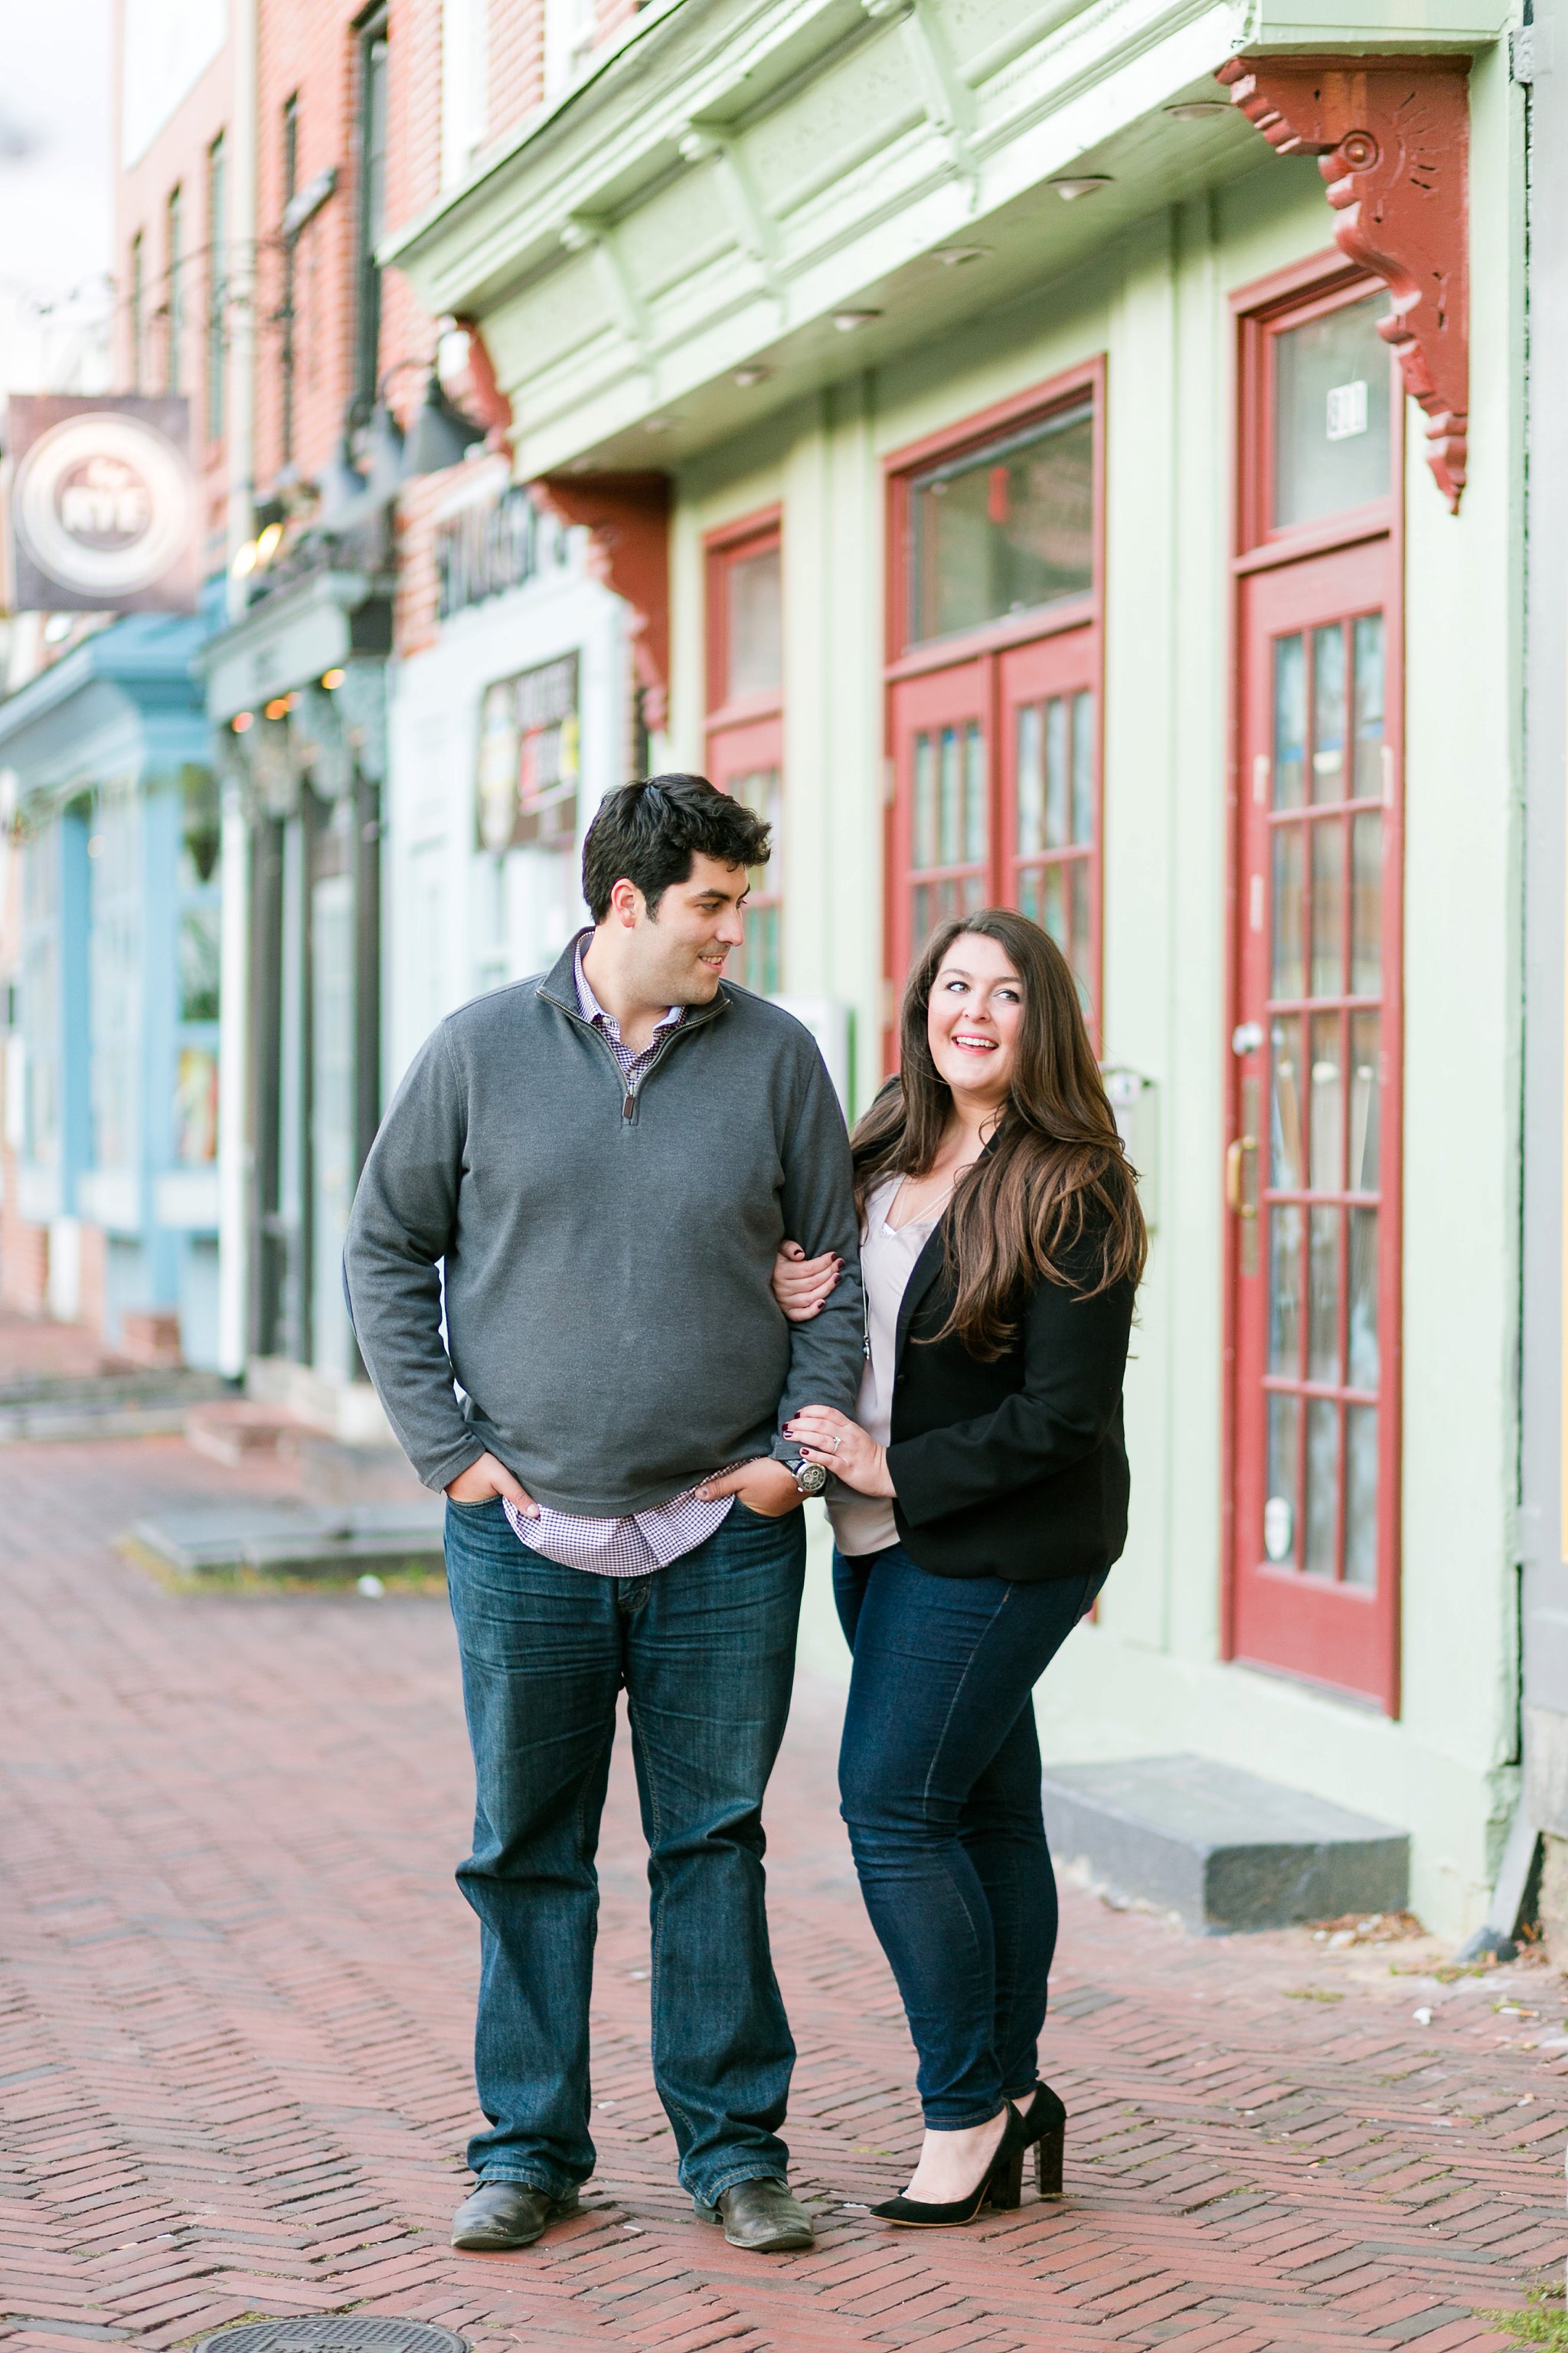
{"label": "woman's black blazer worn over a pale top", "polygon": [[[959,1339],[929,1339],[952,1306],[943,1224],[898,1311],[889,1473],[900,1544],[936,1577],[1098,1574],[1126,1544],[1133,1285],[1084,1299],[1037,1282],[1013,1344],[983,1365]],[[1067,1271],[1084,1264],[1079,1249]]]}

